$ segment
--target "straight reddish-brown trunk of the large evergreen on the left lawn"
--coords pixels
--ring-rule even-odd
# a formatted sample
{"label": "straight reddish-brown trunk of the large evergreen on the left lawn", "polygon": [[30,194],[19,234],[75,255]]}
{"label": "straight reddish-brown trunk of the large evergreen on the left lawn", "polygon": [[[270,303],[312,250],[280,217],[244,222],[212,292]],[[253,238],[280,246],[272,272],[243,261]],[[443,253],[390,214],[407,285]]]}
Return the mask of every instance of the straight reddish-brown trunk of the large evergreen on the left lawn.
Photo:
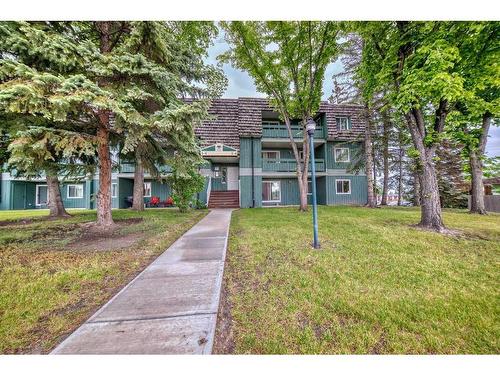
{"label": "straight reddish-brown trunk of the large evergreen on the left lawn", "polygon": [[[96,22],[99,30],[100,49],[103,54],[111,52],[111,25],[107,21]],[[105,78],[98,81],[99,86],[106,86]],[[111,156],[109,153],[109,119],[107,110],[99,109],[97,128],[97,156],[99,158],[99,191],[97,192],[97,225],[110,227],[114,224],[111,216]]]}

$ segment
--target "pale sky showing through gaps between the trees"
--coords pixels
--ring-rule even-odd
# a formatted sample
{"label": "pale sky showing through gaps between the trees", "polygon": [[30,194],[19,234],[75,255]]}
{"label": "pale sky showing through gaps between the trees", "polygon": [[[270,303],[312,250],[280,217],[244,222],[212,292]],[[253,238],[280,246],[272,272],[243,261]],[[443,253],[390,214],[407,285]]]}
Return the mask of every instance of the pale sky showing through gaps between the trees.
{"label": "pale sky showing through gaps between the trees", "polygon": [[[228,45],[222,34],[219,35],[214,45],[208,51],[208,62],[217,63],[217,56],[225,52]],[[224,98],[238,98],[240,96],[264,97],[265,95],[258,92],[253,83],[253,79],[241,70],[233,68],[230,64],[223,65],[224,73],[228,79],[228,87],[224,93]],[[325,73],[325,81],[323,83],[323,100],[328,99],[333,89],[333,74],[341,72],[342,63],[336,61],[330,64]],[[492,126],[489,131],[489,138],[486,144],[486,153],[488,156],[500,156],[500,127]]]}

